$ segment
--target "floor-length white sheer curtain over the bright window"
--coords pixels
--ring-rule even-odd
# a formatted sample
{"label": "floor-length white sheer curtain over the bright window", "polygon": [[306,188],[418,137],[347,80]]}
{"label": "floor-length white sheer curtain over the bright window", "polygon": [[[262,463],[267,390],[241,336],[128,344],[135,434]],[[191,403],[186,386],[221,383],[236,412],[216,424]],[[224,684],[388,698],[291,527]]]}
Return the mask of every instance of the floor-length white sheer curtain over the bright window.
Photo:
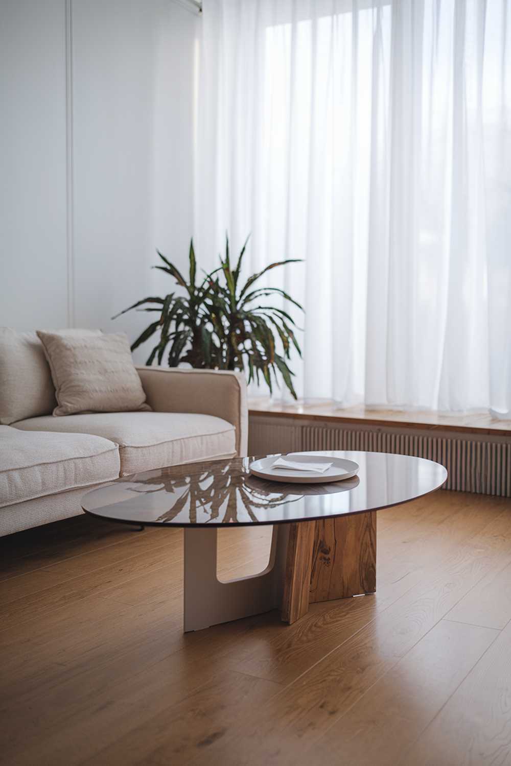
{"label": "floor-length white sheer curtain over the bright window", "polygon": [[[306,309],[305,398],[511,410],[511,0],[204,0],[195,238]],[[209,259],[209,261],[208,261]]]}

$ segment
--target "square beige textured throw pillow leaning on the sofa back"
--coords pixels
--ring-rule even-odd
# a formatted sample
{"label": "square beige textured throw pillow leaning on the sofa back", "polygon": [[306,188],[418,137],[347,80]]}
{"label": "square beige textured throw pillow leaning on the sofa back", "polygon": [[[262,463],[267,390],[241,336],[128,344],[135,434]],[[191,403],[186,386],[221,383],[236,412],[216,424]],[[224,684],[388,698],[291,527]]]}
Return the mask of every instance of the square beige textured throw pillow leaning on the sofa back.
{"label": "square beige textured throw pillow leaning on the sofa back", "polygon": [[150,410],[124,332],[94,337],[38,332],[50,364],[54,415]]}

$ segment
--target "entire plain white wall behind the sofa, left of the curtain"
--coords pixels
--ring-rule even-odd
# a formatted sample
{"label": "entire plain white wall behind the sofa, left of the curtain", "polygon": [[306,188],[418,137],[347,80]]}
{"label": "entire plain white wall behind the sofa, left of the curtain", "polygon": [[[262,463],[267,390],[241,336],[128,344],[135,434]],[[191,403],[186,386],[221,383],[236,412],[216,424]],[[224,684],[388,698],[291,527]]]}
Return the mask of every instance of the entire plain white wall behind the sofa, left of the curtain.
{"label": "entire plain white wall behind the sofa, left of the curtain", "polygon": [[156,247],[184,263],[192,236],[200,18],[172,0],[0,9],[0,325],[133,339],[150,315],[110,317],[167,292]]}

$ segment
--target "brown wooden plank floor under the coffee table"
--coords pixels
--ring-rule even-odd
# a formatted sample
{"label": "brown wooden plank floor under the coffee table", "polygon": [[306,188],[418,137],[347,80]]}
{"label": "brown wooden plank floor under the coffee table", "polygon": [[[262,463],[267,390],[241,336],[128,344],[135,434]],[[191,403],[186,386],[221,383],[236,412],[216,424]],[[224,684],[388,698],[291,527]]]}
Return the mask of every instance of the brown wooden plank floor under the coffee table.
{"label": "brown wooden plank floor under the coffee table", "polygon": [[[221,533],[221,578],[269,528]],[[182,534],[0,539],[0,763],[511,764],[511,501],[378,515],[372,596],[182,634]]]}

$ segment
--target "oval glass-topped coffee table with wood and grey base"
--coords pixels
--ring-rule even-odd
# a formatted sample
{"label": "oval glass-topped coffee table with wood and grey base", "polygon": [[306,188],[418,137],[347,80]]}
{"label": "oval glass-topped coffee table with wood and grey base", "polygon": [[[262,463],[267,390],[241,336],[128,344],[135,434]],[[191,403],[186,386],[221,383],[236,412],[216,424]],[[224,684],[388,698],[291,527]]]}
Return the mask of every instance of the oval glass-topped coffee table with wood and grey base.
{"label": "oval glass-topped coffee table with wood and grey base", "polygon": [[[314,454],[314,453],[308,453]],[[185,529],[185,631],[280,608],[293,623],[316,601],[374,593],[376,512],[433,492],[447,470],[421,457],[321,451],[359,463],[358,476],[283,484],[251,476],[256,458],[189,463],[126,476],[88,492],[84,511],[123,524]],[[217,577],[217,530],[274,525],[267,568]]]}

